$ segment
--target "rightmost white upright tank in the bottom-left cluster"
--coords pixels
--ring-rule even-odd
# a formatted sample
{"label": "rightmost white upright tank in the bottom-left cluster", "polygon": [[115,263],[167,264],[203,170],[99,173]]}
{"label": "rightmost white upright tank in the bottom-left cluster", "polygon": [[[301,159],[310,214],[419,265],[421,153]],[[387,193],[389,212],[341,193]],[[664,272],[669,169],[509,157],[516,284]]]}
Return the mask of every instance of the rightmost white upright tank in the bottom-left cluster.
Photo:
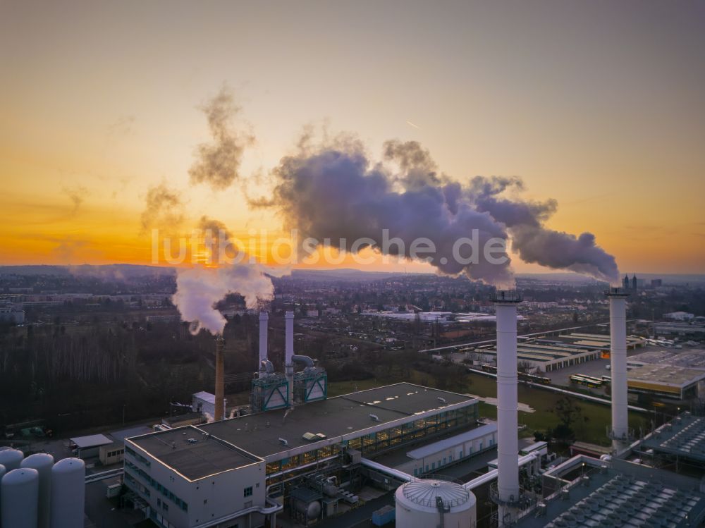
{"label": "rightmost white upright tank in the bottom-left cluster", "polygon": [[51,528],[83,526],[85,462],[64,458],[51,468]]}

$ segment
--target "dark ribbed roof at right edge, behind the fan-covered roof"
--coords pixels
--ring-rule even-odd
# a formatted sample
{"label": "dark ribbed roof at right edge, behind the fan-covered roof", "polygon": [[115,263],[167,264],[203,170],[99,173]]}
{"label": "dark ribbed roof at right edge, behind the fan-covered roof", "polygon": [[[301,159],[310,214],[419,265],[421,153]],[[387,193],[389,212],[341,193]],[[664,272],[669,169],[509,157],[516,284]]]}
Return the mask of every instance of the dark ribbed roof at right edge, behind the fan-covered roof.
{"label": "dark ribbed roof at right edge, behind the fan-covered roof", "polygon": [[705,418],[684,412],[644,438],[642,449],[705,462]]}

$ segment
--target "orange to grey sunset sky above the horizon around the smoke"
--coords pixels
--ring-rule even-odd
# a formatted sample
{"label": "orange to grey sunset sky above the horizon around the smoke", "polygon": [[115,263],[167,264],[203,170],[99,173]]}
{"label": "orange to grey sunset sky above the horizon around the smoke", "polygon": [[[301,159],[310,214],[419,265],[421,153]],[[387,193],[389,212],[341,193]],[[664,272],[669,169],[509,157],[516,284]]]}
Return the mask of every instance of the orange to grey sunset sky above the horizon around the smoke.
{"label": "orange to grey sunset sky above the horizon around the smoke", "polygon": [[704,5],[4,2],[0,264],[150,264],[161,183],[183,196],[178,232],[204,214],[245,239],[281,231],[244,185],[189,181],[200,105],[227,86],[257,197],[306,125],[373,159],[416,140],[452,178],[557,199],[546,225],[595,233],[623,273],[703,273]]}

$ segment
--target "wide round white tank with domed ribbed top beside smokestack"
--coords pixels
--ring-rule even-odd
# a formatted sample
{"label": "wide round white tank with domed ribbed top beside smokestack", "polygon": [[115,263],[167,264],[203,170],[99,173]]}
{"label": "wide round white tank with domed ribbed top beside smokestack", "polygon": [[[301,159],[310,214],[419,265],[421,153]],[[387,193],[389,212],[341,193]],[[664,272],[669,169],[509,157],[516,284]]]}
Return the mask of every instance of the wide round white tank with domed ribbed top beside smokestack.
{"label": "wide round white tank with domed ribbed top beside smokestack", "polygon": [[[477,501],[455,482],[424,479],[397,488],[396,525],[404,528],[474,528]],[[443,522],[441,523],[441,515]]]}

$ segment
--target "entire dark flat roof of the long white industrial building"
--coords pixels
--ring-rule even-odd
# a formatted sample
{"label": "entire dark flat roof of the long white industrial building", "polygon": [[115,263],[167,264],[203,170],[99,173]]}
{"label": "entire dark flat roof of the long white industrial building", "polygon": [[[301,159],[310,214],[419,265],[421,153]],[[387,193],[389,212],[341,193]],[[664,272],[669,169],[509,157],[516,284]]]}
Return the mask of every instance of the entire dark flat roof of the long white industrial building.
{"label": "entire dark flat roof of the long white industrial building", "polygon": [[[271,410],[256,415],[226,419],[222,422],[138,436],[130,440],[164,464],[188,477],[188,474],[180,468],[188,466],[195,458],[206,459],[200,463],[211,463],[221,471],[238,467],[247,461],[247,458],[243,458],[242,455],[241,458],[236,456],[240,450],[245,454],[255,455],[255,460],[257,457],[272,457],[271,460],[278,460],[275,455],[278,453],[286,455],[286,452],[294,448],[311,446],[314,449],[316,441],[309,442],[302,438],[306,433],[320,433],[328,439],[345,434],[362,434],[365,429],[384,426],[422,412],[441,410],[443,407],[455,404],[471,405],[473,402],[477,402],[477,399],[467,395],[439,391],[412,383],[396,383],[307,403],[295,407],[290,412],[285,409]],[[375,415],[377,419],[372,419],[370,415]],[[187,434],[184,435],[183,431]],[[203,442],[202,433],[208,433],[212,438]],[[196,443],[188,443],[186,440],[191,437],[199,440]],[[200,450],[204,443],[216,443],[213,437],[224,441],[218,444],[222,448],[213,448],[213,452]],[[280,438],[286,440],[286,446]],[[177,441],[177,450],[183,451],[183,455],[174,453],[171,441]],[[228,453],[228,444],[239,448],[235,450],[235,454]],[[193,451],[198,451],[199,454],[190,455]],[[227,462],[221,460],[224,458],[227,458]],[[173,463],[170,463],[170,460]],[[185,470],[188,471],[188,469]],[[191,474],[201,474],[208,470],[197,468]]]}

